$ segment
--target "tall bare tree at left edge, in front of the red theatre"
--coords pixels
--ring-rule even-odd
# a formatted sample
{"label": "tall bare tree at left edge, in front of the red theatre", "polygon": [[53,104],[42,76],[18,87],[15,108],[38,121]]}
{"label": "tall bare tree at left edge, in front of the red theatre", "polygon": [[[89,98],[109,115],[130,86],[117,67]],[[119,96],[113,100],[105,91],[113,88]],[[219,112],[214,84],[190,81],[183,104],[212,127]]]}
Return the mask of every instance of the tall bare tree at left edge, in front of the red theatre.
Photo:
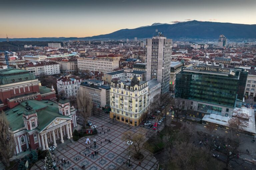
{"label": "tall bare tree at left edge, in front of the red theatre", "polygon": [[15,141],[13,133],[9,130],[9,122],[5,117],[4,111],[0,113],[0,157],[3,163],[10,166],[9,158],[15,151]]}

